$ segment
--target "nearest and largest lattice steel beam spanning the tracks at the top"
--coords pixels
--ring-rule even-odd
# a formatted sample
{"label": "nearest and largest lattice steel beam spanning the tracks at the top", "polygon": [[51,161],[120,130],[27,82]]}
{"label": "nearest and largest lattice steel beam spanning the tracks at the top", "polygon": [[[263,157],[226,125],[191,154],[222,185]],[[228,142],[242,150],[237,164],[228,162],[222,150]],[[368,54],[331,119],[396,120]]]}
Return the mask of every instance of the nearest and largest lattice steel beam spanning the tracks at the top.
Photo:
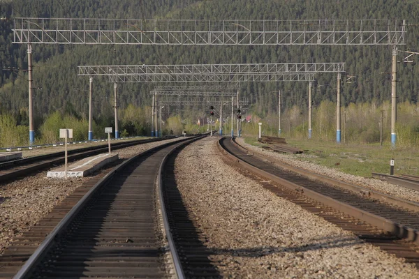
{"label": "nearest and largest lattice steel beam spanning the tracks at the top", "polygon": [[13,43],[404,45],[405,20],[14,20]]}

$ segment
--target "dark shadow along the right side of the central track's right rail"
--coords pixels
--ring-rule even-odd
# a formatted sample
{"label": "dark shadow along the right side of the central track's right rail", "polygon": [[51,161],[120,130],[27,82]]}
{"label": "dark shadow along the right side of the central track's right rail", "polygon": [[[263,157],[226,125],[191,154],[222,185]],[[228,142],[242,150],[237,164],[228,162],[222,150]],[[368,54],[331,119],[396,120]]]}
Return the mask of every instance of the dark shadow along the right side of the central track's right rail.
{"label": "dark shadow along the right side of the central track's right rail", "polygon": [[209,257],[214,255],[212,250],[204,245],[200,232],[197,230],[182,201],[175,181],[174,165],[179,151],[168,158],[164,169],[163,189],[166,202],[166,211],[170,220],[170,229],[175,238],[179,257],[186,278],[222,278],[216,266]]}

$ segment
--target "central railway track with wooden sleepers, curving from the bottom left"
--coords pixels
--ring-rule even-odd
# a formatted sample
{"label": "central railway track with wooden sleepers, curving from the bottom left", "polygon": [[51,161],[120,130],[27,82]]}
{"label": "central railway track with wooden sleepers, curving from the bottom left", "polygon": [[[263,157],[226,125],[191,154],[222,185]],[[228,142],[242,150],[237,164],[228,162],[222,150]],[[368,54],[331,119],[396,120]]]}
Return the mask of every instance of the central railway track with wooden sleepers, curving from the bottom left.
{"label": "central railway track with wooden sleepers, curving from the bottom left", "polygon": [[[172,181],[172,152],[199,138],[140,153],[94,186],[78,189],[6,249],[0,257],[0,278],[184,278],[184,269],[192,276],[216,277],[205,264],[204,250],[203,258],[192,263],[191,252],[185,252],[199,250],[199,232]],[[163,187],[156,187],[156,181]],[[169,223],[174,227],[169,229]]]}

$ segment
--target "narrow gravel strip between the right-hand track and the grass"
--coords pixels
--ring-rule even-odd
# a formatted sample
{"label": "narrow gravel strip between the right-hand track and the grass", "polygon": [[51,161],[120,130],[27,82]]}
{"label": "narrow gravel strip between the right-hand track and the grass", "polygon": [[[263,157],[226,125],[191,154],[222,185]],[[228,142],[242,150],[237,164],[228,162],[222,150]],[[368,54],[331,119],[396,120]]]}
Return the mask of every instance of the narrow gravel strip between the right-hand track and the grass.
{"label": "narrow gravel strip between the right-hand track and the grass", "polygon": [[358,185],[364,188],[368,188],[377,192],[385,193],[387,195],[392,195],[399,197],[401,199],[406,199],[411,202],[419,202],[419,191],[412,190],[409,188],[404,188],[402,186],[397,186],[379,179],[367,179],[362,176],[356,176],[352,174],[345,174],[340,172],[337,169],[330,169],[321,165],[316,165],[315,163],[307,162],[300,158],[304,158],[304,153],[302,154],[284,154],[284,153],[275,153],[273,151],[265,151],[258,146],[253,146],[244,142],[243,138],[238,138],[237,142],[244,146],[246,149],[249,149],[253,152],[257,152],[266,158],[272,158],[274,160],[279,160],[283,163],[291,165],[293,167],[299,167],[300,169],[307,169],[310,172],[316,174],[321,174],[324,176],[331,177],[332,179],[337,179],[340,181],[345,181],[354,185]]}

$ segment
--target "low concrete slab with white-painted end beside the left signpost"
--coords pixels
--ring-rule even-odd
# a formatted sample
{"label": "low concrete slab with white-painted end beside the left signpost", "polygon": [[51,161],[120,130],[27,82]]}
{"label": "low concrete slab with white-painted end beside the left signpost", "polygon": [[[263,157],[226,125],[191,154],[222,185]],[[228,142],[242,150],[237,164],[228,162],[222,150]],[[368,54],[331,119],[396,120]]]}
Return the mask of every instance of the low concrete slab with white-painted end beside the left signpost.
{"label": "low concrete slab with white-painted end beside the left signpost", "polygon": [[[87,176],[115,160],[118,160],[118,153],[105,153],[84,158],[83,160],[68,166],[67,177]],[[65,177],[64,167],[59,167],[58,169],[47,172],[47,177],[63,179]]]}

